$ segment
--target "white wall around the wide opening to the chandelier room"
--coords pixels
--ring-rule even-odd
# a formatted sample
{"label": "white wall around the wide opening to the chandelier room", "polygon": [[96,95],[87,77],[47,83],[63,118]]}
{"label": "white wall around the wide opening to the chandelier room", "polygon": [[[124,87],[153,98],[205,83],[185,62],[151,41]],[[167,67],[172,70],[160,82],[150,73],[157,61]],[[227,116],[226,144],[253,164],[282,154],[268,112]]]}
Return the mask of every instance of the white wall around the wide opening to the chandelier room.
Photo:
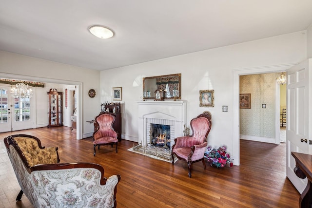
{"label": "white wall around the wide opening to the chandelier room", "polygon": [[[80,93],[81,109],[79,110],[81,120],[77,124],[79,127],[82,126],[82,132],[78,134],[80,138],[92,136],[94,127],[86,121],[92,120],[100,112],[99,74],[100,72],[97,70],[0,51],[1,78],[15,77],[21,79],[24,77],[24,80],[29,81],[70,84],[81,87],[81,89],[78,89]],[[97,92],[94,98],[88,96],[90,89],[95,89]],[[47,96],[46,92],[46,89],[44,89],[41,93]],[[42,119],[38,120],[38,124],[44,123],[44,117]]]}

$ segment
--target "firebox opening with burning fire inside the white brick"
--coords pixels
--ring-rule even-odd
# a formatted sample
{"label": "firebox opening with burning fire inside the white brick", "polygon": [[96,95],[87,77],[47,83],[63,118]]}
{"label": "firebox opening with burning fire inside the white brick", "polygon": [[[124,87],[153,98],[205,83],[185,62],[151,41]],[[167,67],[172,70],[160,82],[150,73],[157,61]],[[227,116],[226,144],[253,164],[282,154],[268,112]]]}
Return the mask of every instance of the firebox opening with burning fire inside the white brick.
{"label": "firebox opening with burning fire inside the white brick", "polygon": [[151,123],[150,144],[170,150],[170,125]]}

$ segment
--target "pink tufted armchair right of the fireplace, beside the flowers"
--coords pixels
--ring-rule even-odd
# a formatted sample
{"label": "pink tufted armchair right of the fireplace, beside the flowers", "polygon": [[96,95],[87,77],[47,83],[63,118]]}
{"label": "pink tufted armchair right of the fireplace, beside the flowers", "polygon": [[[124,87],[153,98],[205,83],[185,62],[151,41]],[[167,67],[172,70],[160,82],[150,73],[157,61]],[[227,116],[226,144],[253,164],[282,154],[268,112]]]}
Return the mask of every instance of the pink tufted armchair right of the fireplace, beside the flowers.
{"label": "pink tufted armchair right of the fireplace, beside the flowers", "polygon": [[175,138],[175,144],[172,146],[171,156],[172,164],[175,164],[174,155],[180,160],[187,162],[189,168],[189,177],[191,178],[191,166],[195,162],[202,161],[204,170],[206,164],[204,154],[207,148],[207,136],[211,129],[211,113],[205,111],[191,120],[191,136],[181,136]]}

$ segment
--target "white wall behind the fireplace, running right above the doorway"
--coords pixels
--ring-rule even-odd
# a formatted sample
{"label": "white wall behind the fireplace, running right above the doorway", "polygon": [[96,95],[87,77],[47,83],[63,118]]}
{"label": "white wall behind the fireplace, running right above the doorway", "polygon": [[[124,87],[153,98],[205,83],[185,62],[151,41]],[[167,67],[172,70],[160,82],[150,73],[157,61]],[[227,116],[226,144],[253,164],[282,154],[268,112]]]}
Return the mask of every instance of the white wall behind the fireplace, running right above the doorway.
{"label": "white wall behind the fireplace, running right above the doorway", "polygon": [[[187,100],[187,125],[192,118],[209,110],[212,129],[208,144],[213,147],[227,145],[232,153],[233,70],[297,63],[305,59],[306,35],[297,32],[102,71],[100,87],[103,95],[111,95],[112,87],[122,87],[122,136],[137,141],[137,101],[142,96],[142,86],[133,87],[134,80],[141,75],[181,73],[181,98]],[[199,107],[199,90],[215,90],[214,108]],[[228,106],[227,113],[222,112],[223,105]]]}

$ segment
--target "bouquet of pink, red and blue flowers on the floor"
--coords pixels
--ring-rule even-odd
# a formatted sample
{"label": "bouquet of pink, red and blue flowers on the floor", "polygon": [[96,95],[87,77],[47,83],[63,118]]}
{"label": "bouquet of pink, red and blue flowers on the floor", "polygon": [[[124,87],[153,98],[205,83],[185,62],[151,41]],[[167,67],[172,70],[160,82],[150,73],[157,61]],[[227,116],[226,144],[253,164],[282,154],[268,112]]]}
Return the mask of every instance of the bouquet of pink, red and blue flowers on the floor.
{"label": "bouquet of pink, red and blue flowers on the floor", "polygon": [[226,147],[222,146],[218,149],[212,149],[210,146],[207,148],[207,159],[211,166],[223,168],[226,164],[233,166],[233,159],[230,154],[226,153]]}

